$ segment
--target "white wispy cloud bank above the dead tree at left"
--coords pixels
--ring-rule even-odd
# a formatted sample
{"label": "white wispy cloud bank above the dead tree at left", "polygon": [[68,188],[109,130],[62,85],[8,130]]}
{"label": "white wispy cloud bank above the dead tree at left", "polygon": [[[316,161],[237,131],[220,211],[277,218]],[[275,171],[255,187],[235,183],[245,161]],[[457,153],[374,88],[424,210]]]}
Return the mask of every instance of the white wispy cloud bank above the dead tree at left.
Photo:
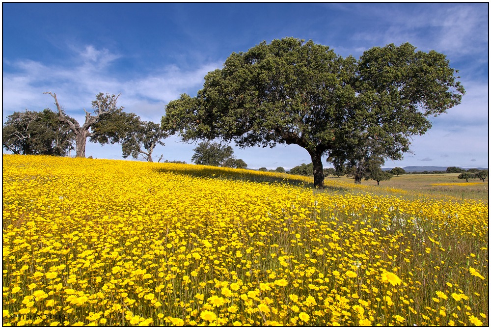
{"label": "white wispy cloud bank above the dead tree at left", "polygon": [[[221,63],[208,63],[195,70],[183,71],[174,65],[156,68],[152,75],[138,79],[115,78],[109,74],[111,65],[121,55],[92,45],[73,49],[71,63],[45,65],[32,60],[4,61],[9,73],[3,74],[4,116],[13,111],[53,108],[53,100],[42,93],[55,92],[69,115],[83,119],[99,92],[122,93],[119,105],[135,112],[144,120],[160,121],[164,106],[183,92],[199,88],[209,71]],[[6,112],[6,113],[5,113]]]}

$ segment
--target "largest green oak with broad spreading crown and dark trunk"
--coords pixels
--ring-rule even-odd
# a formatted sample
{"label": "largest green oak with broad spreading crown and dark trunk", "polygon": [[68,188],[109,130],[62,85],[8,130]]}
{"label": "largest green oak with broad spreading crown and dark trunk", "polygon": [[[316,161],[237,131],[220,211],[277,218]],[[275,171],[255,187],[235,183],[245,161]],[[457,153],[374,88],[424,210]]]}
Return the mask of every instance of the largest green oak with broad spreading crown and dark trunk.
{"label": "largest green oak with broad spreading crown and dark trunk", "polygon": [[376,144],[379,157],[402,158],[409,138],[431,127],[428,116],[461,102],[464,88],[454,73],[445,55],[416,52],[409,43],[375,47],[356,60],[284,38],[232,53],[205,76],[196,97],[169,102],[162,124],[185,141],[297,144],[322,187],[325,155],[339,166],[359,166],[367,145]]}

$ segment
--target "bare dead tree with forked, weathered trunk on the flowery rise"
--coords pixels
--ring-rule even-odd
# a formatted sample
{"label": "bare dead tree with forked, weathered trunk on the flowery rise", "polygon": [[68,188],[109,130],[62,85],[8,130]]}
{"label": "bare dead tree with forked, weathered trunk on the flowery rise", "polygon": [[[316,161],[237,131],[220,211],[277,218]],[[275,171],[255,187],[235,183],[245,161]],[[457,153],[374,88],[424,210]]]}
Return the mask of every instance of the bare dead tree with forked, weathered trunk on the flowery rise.
{"label": "bare dead tree with forked, weathered trunk on the flowery rise", "polygon": [[[96,123],[102,114],[110,113],[115,110],[117,99],[121,96],[121,94],[109,96],[109,94],[104,95],[99,93],[96,96],[96,100],[92,102],[94,111],[89,113],[83,109],[85,111],[85,122],[81,127],[76,120],[71,121],[66,117],[64,110],[58,103],[55,93],[43,92],[43,94],[49,94],[55,99],[56,108],[58,109],[58,119],[60,122],[68,125],[75,134],[76,156],[82,158],[85,158],[85,144],[87,143],[87,137],[92,136],[92,133],[89,132],[90,126]],[[95,113],[95,115],[92,115],[93,113]]]}

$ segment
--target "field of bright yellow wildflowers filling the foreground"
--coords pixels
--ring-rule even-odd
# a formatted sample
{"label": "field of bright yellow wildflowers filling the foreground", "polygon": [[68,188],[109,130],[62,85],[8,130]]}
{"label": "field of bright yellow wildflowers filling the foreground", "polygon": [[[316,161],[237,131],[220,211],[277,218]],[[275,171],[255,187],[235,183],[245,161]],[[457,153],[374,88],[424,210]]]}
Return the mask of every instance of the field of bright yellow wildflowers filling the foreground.
{"label": "field of bright yellow wildflowers filling the foreground", "polygon": [[2,324],[488,326],[488,203],[257,174],[3,155]]}

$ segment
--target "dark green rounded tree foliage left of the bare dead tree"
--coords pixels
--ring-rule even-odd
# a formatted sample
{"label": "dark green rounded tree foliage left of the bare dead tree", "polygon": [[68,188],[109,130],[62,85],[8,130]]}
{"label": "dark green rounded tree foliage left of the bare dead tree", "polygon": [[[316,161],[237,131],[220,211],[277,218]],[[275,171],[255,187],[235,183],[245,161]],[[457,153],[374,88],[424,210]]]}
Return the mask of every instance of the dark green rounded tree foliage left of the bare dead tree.
{"label": "dark green rounded tree foliage left of the bare dead tree", "polygon": [[49,109],[14,112],[2,127],[2,146],[13,154],[66,156],[73,143],[74,134]]}

